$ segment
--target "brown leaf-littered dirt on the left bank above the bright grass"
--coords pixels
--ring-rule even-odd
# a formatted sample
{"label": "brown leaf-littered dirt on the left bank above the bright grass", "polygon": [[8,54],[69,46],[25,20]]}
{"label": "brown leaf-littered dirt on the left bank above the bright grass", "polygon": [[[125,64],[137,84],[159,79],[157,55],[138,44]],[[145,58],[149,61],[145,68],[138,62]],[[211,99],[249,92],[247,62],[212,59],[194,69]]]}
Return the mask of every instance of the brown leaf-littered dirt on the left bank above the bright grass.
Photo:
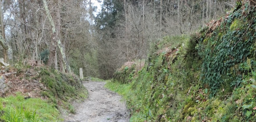
{"label": "brown leaf-littered dirt on the left bank above the bright grass", "polygon": [[8,86],[8,90],[1,94],[2,97],[15,95],[17,92],[20,92],[25,97],[46,99],[46,97],[42,97],[41,91],[47,90],[47,88],[40,82],[40,78],[37,77],[39,71],[35,70],[35,66],[32,65],[31,68],[24,69],[23,71],[17,71],[17,69],[10,67],[8,71],[2,70],[0,72],[1,75],[5,76],[5,83]]}

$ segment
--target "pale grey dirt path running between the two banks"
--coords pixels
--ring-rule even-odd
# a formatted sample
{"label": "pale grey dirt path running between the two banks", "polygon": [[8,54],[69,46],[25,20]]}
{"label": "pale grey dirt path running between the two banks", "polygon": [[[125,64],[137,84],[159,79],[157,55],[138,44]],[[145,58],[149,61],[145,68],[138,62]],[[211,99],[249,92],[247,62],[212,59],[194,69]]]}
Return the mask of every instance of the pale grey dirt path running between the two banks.
{"label": "pale grey dirt path running between the two banks", "polygon": [[90,121],[129,121],[129,112],[122,97],[107,90],[106,82],[85,82],[88,90],[88,98],[83,103],[74,103],[76,114],[65,117],[65,121],[90,122]]}

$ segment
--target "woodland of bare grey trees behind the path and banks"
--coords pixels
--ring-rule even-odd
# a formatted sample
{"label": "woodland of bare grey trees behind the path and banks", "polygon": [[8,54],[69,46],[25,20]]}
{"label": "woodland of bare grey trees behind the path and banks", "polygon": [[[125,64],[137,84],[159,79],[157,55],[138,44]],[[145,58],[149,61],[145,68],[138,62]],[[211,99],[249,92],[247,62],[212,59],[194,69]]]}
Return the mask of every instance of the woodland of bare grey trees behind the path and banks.
{"label": "woodland of bare grey trees behind the path and banks", "polygon": [[228,13],[235,0],[2,0],[0,57],[109,79],[143,60],[163,36],[189,35]]}

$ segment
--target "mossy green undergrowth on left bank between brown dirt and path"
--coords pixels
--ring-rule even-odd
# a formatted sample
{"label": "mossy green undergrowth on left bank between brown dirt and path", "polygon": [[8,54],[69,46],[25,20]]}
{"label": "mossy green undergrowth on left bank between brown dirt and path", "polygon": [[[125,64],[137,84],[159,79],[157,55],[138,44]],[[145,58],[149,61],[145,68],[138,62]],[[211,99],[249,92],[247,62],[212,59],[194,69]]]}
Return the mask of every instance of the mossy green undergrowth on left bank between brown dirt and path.
{"label": "mossy green undergrowth on left bank between brown dirt and path", "polygon": [[71,102],[87,97],[82,81],[74,75],[42,68],[38,77],[41,79],[40,82],[47,86],[47,90],[41,92],[42,96],[49,98],[56,108],[61,106],[74,113]]}

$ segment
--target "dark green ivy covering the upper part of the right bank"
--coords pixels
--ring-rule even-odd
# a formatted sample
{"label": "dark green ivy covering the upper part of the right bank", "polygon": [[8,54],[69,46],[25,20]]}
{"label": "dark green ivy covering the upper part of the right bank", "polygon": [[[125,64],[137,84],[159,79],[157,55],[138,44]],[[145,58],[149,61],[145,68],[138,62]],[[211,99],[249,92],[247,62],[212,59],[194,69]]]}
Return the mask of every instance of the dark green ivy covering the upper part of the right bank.
{"label": "dark green ivy covering the upper part of the right bank", "polygon": [[[199,37],[196,49],[203,62],[202,82],[211,89],[211,96],[227,86],[239,86],[244,75],[254,71],[255,18],[254,7],[239,3],[233,13],[216,21],[218,25],[213,23]],[[214,30],[212,26],[216,26]],[[244,67],[248,59],[252,69]]]}

